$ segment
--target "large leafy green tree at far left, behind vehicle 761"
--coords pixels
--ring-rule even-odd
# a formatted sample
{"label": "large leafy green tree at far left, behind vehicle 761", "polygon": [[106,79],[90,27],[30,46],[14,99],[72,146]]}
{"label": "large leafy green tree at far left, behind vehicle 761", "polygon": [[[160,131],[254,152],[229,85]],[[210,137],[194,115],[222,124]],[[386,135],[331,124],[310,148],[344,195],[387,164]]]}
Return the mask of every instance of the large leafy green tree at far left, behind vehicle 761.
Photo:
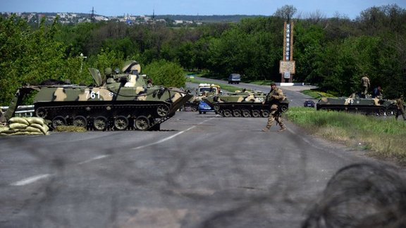
{"label": "large leafy green tree at far left, behind vehicle 761", "polygon": [[[11,16],[0,20],[0,102],[8,104],[16,89],[23,84],[39,84],[43,80],[69,79],[66,46],[56,41],[59,32],[58,18],[45,25],[42,18],[39,28],[31,31],[23,20]],[[78,69],[78,68],[77,68]]]}

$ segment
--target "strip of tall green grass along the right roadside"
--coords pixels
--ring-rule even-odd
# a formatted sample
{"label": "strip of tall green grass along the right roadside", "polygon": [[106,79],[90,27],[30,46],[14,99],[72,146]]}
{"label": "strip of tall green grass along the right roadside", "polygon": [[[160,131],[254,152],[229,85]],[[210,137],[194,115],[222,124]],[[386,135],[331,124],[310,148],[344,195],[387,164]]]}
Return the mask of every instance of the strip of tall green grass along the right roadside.
{"label": "strip of tall green grass along the right roadside", "polygon": [[395,117],[376,117],[314,108],[289,108],[285,116],[307,132],[342,141],[347,146],[362,146],[369,155],[395,159],[406,165],[406,121]]}

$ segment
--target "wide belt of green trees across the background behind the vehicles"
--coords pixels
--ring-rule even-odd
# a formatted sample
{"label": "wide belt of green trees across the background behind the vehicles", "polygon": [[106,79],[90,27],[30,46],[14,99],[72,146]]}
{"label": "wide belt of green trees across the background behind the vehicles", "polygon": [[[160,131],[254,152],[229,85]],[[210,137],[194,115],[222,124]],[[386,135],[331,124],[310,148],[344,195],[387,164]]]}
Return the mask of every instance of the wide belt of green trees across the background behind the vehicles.
{"label": "wide belt of green trees across the background behind the vehicles", "polygon": [[[406,94],[406,11],[376,6],[355,20],[321,13],[295,17],[293,6],[269,17],[238,23],[167,27],[161,23],[118,22],[30,25],[12,15],[0,18],[0,104],[8,105],[23,84],[49,78],[91,84],[87,68],[121,68],[127,60],[142,65],[155,84],[183,87],[183,71],[212,77],[238,72],[242,80],[279,82],[283,57],[283,23],[294,23],[295,82],[348,96],[368,75],[393,99]],[[82,55],[81,55],[82,54]]]}

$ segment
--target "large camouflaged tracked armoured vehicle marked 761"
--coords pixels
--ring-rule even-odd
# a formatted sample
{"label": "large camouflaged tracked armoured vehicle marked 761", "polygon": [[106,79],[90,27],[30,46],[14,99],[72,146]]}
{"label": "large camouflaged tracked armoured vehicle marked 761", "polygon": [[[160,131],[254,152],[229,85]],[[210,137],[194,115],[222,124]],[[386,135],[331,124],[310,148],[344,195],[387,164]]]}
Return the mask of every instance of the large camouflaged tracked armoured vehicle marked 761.
{"label": "large camouflaged tracked armoured vehicle marked 761", "polygon": [[89,69],[94,86],[56,84],[21,87],[13,99],[10,119],[23,96],[32,90],[35,116],[51,122],[51,127],[75,125],[93,130],[159,129],[160,124],[183,106],[192,95],[177,88],[147,87],[140,64],[130,61],[121,74],[101,77],[99,70]]}

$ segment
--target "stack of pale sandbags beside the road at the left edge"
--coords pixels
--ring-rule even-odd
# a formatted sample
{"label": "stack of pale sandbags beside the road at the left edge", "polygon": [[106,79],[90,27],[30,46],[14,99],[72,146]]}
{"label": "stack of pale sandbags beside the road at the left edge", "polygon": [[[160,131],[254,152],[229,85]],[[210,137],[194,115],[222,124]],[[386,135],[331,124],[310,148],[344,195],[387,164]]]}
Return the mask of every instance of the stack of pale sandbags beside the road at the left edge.
{"label": "stack of pale sandbags beside the road at the left edge", "polygon": [[49,134],[49,127],[44,119],[37,117],[13,117],[8,120],[8,126],[0,127],[1,135],[41,135]]}

